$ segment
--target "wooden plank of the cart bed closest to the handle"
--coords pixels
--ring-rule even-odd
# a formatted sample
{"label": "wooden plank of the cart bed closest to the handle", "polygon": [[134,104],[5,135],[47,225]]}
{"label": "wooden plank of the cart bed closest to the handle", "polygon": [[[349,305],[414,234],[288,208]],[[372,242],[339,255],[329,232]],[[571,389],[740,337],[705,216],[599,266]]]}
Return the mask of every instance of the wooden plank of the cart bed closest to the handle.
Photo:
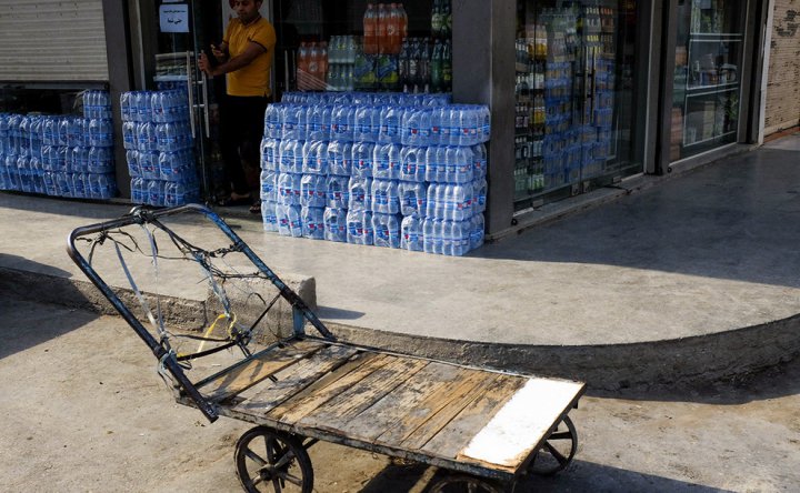
{"label": "wooden plank of the cart bed closest to the handle", "polygon": [[233,366],[218,378],[206,382],[201,392],[207,399],[224,401],[268,379],[276,372],[308,358],[327,344],[317,341],[297,341],[286,348],[261,353],[252,360]]}

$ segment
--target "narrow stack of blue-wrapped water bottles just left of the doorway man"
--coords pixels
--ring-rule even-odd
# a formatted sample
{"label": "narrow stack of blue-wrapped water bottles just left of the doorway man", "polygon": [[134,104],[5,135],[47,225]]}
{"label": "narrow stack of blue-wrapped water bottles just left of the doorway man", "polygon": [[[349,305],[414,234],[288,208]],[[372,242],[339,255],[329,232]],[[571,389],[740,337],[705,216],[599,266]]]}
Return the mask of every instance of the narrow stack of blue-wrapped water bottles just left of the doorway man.
{"label": "narrow stack of blue-wrapped water bottles just left of the doorway man", "polygon": [[187,94],[180,90],[120,95],[131,201],[182,205],[199,199]]}

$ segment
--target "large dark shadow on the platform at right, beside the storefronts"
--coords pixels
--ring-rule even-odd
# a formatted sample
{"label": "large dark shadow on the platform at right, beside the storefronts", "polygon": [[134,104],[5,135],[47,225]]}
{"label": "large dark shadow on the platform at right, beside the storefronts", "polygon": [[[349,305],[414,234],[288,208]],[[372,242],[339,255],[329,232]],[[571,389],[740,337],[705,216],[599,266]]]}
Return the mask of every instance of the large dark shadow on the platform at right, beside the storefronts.
{"label": "large dark shadow on the platform at right, beside the storefronts", "polygon": [[800,286],[800,153],[718,161],[469,256],[570,262]]}

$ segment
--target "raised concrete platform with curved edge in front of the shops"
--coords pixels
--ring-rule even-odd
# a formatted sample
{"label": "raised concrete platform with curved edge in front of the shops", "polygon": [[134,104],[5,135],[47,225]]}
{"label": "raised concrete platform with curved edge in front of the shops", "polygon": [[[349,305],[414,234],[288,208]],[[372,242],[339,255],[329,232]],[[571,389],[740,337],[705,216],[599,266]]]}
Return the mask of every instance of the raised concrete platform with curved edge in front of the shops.
{"label": "raised concrete platform with curved edge in front of the shops", "polygon": [[[279,274],[313,276],[318,314],[357,342],[601,388],[800,353],[800,135],[622,188],[464,258],[283,238],[222,214]],[[67,234],[128,209],[0,193],[0,268],[83,280]]]}

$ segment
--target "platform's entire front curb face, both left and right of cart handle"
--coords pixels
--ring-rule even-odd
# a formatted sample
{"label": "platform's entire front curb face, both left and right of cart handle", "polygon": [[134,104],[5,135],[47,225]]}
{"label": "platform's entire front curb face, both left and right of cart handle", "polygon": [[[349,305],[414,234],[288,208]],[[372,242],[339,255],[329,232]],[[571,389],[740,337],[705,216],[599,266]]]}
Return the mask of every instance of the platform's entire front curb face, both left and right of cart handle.
{"label": "platform's entire front curb face, both left and right of cart handle", "polygon": [[[287,280],[316,306],[313,278]],[[47,285],[47,290],[41,286]],[[118,315],[88,281],[0,268],[0,290],[11,296]],[[116,289],[138,306],[130,290]],[[281,302],[277,320],[291,323]],[[200,330],[209,323],[208,300],[161,296],[168,323]],[[281,325],[282,326],[282,325]],[[663,384],[702,384],[742,375],[800,355],[800,314],[759,325],[691,338],[608,345],[526,345],[416,336],[329,323],[342,341],[443,361],[587,382],[592,390],[619,391]],[[284,332],[287,328],[282,328]],[[313,332],[313,328],[308,330]],[[314,334],[316,335],[316,334]]]}

